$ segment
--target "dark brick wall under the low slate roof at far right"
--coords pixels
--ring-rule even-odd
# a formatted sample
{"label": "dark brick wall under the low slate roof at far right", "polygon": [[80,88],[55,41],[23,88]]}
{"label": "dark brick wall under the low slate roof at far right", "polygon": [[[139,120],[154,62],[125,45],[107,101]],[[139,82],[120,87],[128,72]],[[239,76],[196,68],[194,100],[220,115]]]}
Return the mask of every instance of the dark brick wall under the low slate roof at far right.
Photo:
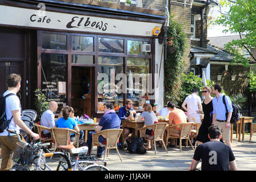
{"label": "dark brick wall under the low slate roof at far right", "polygon": [[[227,72],[225,74],[225,65],[211,64],[211,80],[221,84],[225,92],[229,94],[243,93],[247,96],[248,68],[243,67],[243,65],[229,65],[228,68],[231,73]],[[217,75],[222,76],[220,81],[217,80]],[[234,81],[231,80],[231,75],[236,75]]]}

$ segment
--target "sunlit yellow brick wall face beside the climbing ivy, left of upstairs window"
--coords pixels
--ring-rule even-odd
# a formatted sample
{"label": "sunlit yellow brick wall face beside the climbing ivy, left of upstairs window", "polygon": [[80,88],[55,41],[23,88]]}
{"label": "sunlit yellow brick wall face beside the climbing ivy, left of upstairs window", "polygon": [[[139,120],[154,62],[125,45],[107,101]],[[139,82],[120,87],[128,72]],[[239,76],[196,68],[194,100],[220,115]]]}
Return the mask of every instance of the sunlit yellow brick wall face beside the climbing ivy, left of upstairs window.
{"label": "sunlit yellow brick wall face beside the climbing ivy, left of upstairs window", "polygon": [[182,25],[183,31],[187,34],[186,44],[187,48],[184,52],[183,60],[185,60],[185,65],[183,67],[184,73],[190,72],[190,23],[191,23],[191,9],[189,6],[184,7],[178,3],[169,3],[170,14],[174,15],[175,22]]}

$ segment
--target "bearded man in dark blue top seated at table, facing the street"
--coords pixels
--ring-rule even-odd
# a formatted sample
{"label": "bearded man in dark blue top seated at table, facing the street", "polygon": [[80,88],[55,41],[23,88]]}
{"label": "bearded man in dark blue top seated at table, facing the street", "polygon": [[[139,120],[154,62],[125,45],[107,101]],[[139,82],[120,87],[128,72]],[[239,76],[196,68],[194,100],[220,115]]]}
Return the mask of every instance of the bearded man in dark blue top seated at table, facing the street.
{"label": "bearded man in dark blue top seated at table, facing the street", "polygon": [[[133,101],[131,101],[130,99],[127,99],[125,101],[125,106],[122,106],[122,107],[119,108],[118,117],[121,120],[127,120],[127,119],[130,119],[130,118],[135,118],[135,115],[136,115],[136,111],[133,109]],[[135,132],[135,129],[125,127],[124,130],[123,130],[123,135],[125,137],[125,140],[128,138],[128,135],[130,133],[133,134],[134,132]]]}

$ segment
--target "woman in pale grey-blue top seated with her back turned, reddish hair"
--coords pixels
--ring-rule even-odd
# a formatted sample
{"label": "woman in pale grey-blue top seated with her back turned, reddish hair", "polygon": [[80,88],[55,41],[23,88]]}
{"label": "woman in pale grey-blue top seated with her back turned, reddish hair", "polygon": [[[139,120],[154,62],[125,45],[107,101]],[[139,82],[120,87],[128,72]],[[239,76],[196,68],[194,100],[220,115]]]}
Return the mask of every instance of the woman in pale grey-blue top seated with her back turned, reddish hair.
{"label": "woman in pale grey-blue top seated with her back turned, reddish hair", "polygon": [[[143,122],[142,118],[144,118],[145,125],[153,125],[154,123],[158,122],[157,116],[155,115],[154,111],[152,110],[152,106],[150,104],[144,104],[143,105],[144,111],[141,113],[139,118],[137,119],[137,122]],[[152,136],[152,130],[146,129],[146,138],[147,138],[147,147],[145,147],[147,150],[151,149],[151,139]]]}

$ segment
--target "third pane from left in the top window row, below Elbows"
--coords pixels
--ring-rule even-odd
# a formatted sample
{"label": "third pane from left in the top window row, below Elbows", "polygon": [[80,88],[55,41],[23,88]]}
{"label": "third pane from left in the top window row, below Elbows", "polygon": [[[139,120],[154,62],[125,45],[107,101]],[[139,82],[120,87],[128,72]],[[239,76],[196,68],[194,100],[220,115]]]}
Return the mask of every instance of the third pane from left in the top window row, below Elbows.
{"label": "third pane from left in the top window row, below Elbows", "polygon": [[99,52],[123,53],[123,40],[99,38]]}

